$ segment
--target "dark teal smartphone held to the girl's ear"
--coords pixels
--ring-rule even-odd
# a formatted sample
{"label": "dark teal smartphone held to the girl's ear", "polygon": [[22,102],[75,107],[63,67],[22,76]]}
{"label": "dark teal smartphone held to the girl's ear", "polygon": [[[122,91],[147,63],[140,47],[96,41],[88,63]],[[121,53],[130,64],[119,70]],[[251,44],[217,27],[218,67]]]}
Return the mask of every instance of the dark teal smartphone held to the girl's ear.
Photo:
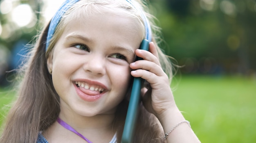
{"label": "dark teal smartphone held to the girl's ear", "polygon": [[[149,48],[149,41],[144,39],[141,42],[141,50],[147,50]],[[142,58],[137,57],[136,60],[142,60]],[[142,78],[134,78],[132,83],[132,91],[130,95],[130,101],[128,105],[128,111],[126,115],[126,120],[124,124],[124,131],[122,135],[121,143],[132,143],[132,138],[135,131],[136,120],[138,116],[138,108],[140,103],[140,91],[144,80]]]}

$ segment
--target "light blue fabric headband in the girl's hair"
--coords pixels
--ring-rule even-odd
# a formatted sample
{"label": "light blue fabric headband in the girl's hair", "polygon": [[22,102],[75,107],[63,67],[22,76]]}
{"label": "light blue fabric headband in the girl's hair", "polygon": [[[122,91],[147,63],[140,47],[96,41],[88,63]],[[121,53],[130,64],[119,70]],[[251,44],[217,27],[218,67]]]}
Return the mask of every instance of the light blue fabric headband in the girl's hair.
{"label": "light blue fabric headband in the girl's hair", "polygon": [[[64,13],[70,9],[70,7],[75,4],[76,2],[78,2],[79,0],[66,0],[61,7],[58,9],[58,11],[55,13],[55,15],[52,17],[52,20],[50,22],[50,26],[49,26],[49,30],[48,30],[48,34],[47,34],[47,39],[46,39],[46,50],[49,47],[49,43],[50,43],[50,39],[52,38],[52,36],[54,35],[55,29],[58,25],[58,23],[61,20],[61,17],[64,15]],[[126,0],[127,2],[129,2],[135,9],[137,9],[134,4],[132,3],[131,0]],[[151,37],[151,28],[150,28],[150,24],[149,21],[146,17],[146,15],[144,14],[144,12],[141,9],[137,9],[137,11],[139,11],[141,13],[141,18],[144,22],[144,26],[145,26],[145,39],[147,39],[148,41],[152,40]]]}

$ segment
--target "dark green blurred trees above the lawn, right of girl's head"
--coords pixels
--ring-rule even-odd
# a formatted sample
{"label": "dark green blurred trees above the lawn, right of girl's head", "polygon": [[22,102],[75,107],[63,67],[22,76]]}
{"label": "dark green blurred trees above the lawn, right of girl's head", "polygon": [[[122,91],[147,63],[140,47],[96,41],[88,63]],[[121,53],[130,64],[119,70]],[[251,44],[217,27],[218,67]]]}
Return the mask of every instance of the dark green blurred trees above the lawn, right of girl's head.
{"label": "dark green blurred trees above the lawn, right of girl's head", "polygon": [[202,73],[200,67],[209,64],[202,59],[214,59],[218,65],[208,73],[256,73],[255,0],[150,2],[157,9],[153,13],[166,41],[163,48],[181,65],[184,58],[193,58],[197,66],[193,71]]}

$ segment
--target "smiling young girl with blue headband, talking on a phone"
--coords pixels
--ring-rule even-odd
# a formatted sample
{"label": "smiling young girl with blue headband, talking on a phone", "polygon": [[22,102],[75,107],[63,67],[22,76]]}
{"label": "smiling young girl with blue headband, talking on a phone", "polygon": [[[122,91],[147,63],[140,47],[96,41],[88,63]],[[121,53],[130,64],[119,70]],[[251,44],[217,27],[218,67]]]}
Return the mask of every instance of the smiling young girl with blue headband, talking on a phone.
{"label": "smiling young girl with blue headband, talking on a phone", "polygon": [[[200,142],[173,100],[171,64],[142,5],[64,2],[31,50],[0,142],[120,143],[132,77],[148,83],[132,143]],[[149,52],[138,49],[143,39]]]}

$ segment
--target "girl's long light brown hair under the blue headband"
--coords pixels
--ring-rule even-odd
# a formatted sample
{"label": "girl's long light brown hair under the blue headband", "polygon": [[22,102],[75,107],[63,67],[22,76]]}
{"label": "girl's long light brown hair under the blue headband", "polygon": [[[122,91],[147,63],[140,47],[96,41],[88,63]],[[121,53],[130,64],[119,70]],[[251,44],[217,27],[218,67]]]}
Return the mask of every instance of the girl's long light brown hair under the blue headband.
{"label": "girl's long light brown hair under the blue headband", "polygon": [[[90,14],[89,12],[95,11],[95,8],[97,7],[97,11],[100,11],[102,8],[110,10],[113,8],[113,5],[115,5],[115,8],[117,9],[125,9],[127,13],[133,13],[130,15],[134,15],[133,19],[135,21],[136,19],[137,22],[139,22],[138,20],[141,20],[137,10],[132,6],[129,6],[128,2],[120,4],[120,1],[113,2],[113,0],[109,0],[109,2],[103,2],[103,0],[89,1],[90,4],[89,2],[85,2],[85,0],[81,0],[80,4],[89,4],[90,9],[88,9],[88,11],[84,11],[85,9],[82,11],[76,11],[79,13],[79,15],[83,15],[84,13]],[[119,4],[117,4],[118,2]],[[109,5],[108,3],[114,4]],[[143,5],[141,2],[138,4]],[[71,9],[77,9],[75,6],[76,4]],[[72,20],[70,17],[68,17],[68,15],[73,12],[74,11],[67,11],[63,20],[61,20],[58,24],[47,51],[45,50],[45,43],[49,24],[40,33],[34,48],[32,48],[31,52],[29,53],[29,60],[23,67],[25,69],[25,74],[22,82],[20,83],[18,99],[14,106],[10,109],[9,115],[7,116],[5,128],[0,138],[1,143],[35,143],[38,137],[38,132],[46,130],[56,121],[56,118],[60,112],[59,96],[54,89],[52,75],[47,69],[47,58],[49,53],[54,49],[54,45],[61,36],[65,25],[67,22],[69,22],[69,20]],[[149,14],[146,15],[149,19],[152,19]],[[153,41],[157,46],[155,40],[155,37],[157,36],[154,34],[157,31],[157,28],[153,24],[151,24],[151,27],[153,28]],[[159,53],[161,66],[171,79],[171,64],[167,56],[164,55],[158,46],[157,51]],[[113,122],[113,126],[115,126],[117,130],[118,142],[121,141],[127,108],[128,100],[125,98],[124,101],[119,104],[116,118]],[[161,130],[156,117],[153,114],[148,113],[148,111],[146,111],[144,106],[141,104],[133,142],[163,143],[164,139],[162,136],[163,131]]]}

